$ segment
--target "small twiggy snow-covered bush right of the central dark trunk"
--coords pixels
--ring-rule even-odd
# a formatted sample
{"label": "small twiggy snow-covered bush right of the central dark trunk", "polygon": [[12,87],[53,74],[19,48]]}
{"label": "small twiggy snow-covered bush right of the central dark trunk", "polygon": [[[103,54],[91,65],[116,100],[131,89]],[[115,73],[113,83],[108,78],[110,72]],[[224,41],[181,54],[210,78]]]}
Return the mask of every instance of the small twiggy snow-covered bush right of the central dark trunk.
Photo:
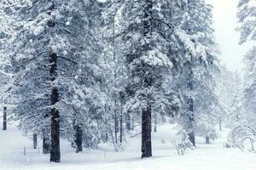
{"label": "small twiggy snow-covered bush right of the central dark trunk", "polygon": [[176,140],[172,140],[172,144],[177,150],[179,156],[183,156],[185,151],[193,147],[193,144],[189,140],[189,135],[186,132],[182,132],[182,139],[180,143],[177,143]]}

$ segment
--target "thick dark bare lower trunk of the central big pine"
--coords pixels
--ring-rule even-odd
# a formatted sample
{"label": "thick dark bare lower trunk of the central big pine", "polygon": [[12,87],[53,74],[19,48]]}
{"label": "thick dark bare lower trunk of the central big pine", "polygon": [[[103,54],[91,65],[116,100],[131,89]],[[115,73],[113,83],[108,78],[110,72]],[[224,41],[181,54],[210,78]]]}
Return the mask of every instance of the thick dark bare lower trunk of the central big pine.
{"label": "thick dark bare lower trunk of the central big pine", "polygon": [[143,109],[142,119],[142,158],[152,156],[151,146],[151,107]]}

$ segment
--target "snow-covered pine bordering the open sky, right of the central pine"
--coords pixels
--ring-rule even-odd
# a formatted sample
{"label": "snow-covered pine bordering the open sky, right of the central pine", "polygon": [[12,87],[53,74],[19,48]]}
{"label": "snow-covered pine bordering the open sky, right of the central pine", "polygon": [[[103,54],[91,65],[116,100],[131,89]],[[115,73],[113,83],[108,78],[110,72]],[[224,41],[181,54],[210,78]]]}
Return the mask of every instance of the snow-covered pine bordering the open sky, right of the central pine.
{"label": "snow-covered pine bordering the open sky, right of the central pine", "polygon": [[[177,36],[183,47],[177,51],[177,54],[183,56],[178,61],[183,65],[177,81],[177,87],[182,87],[183,96],[179,122],[183,129],[188,131],[189,139],[195,145],[195,131],[200,130],[196,129],[200,127],[196,124],[200,120],[200,123],[212,123],[209,118],[213,118],[212,114],[215,114],[212,107],[218,107],[213,88],[213,75],[214,71],[218,71],[218,60],[212,30],[212,7],[204,0],[188,1],[186,7],[187,12],[183,14],[180,25],[183,31],[179,31]],[[204,99],[206,96],[207,100]],[[198,111],[201,111],[201,114]],[[212,132],[214,125],[204,125],[204,131]]]}

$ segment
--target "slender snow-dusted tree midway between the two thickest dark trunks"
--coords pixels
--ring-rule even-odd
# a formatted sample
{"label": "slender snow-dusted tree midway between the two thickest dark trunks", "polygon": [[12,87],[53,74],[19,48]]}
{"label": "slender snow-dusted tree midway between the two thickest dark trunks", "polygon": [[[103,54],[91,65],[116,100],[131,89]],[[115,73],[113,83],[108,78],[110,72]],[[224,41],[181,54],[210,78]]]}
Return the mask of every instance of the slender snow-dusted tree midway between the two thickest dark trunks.
{"label": "slender snow-dusted tree midway between the two thickest dark trunks", "polygon": [[113,124],[114,142],[121,144],[124,135],[123,120],[126,120],[122,107],[125,98],[127,68],[122,54],[124,47],[121,37],[118,36],[120,33],[118,8],[108,8],[109,5],[113,5],[111,1],[104,3],[105,10],[102,14],[104,31],[102,33],[105,39],[106,66],[108,66],[108,91],[112,96],[110,106],[113,111],[113,123],[111,124]]}

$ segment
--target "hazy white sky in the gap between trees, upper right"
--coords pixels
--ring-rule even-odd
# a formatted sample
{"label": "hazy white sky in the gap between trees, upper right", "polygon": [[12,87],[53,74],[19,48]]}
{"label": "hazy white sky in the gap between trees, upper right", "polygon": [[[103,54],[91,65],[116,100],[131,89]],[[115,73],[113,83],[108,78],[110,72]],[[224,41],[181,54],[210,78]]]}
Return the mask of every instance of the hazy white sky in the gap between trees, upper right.
{"label": "hazy white sky in the gap between trees, upper right", "polygon": [[213,20],[216,40],[220,46],[221,61],[232,71],[242,71],[243,55],[250,49],[250,45],[239,45],[236,5],[238,0],[206,0],[213,5]]}

